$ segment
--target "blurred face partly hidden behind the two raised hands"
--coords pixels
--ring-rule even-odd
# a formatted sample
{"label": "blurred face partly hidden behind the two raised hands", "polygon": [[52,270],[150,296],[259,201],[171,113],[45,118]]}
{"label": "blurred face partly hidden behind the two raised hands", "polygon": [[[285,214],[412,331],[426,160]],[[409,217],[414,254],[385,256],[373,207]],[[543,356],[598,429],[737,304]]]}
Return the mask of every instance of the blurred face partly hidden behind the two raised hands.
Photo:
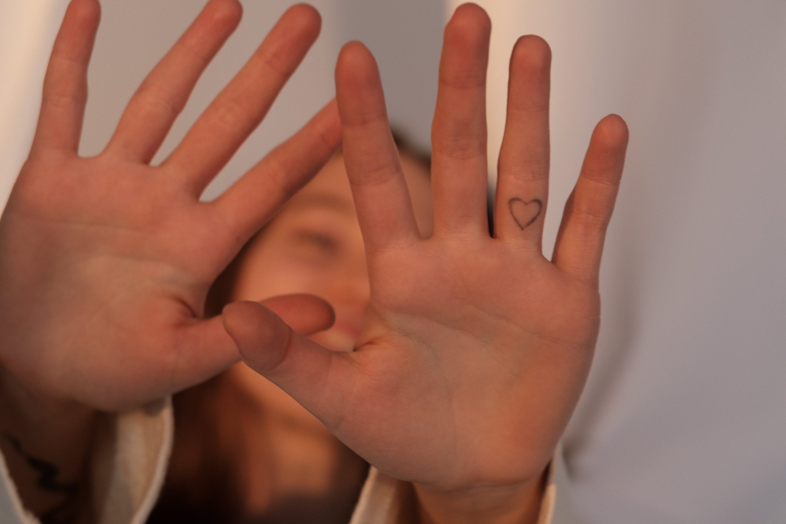
{"label": "blurred face partly hidden behind the two raised hands", "polygon": [[[402,156],[417,223],[432,233],[428,168]],[[343,156],[335,156],[308,185],[292,197],[248,249],[232,292],[233,300],[309,293],[327,300],[336,324],[311,336],[334,351],[351,351],[369,305],[365,251]],[[279,409],[302,411],[292,399],[244,366],[233,372],[245,385]],[[283,395],[283,397],[282,397]],[[294,405],[293,405],[294,404]]]}

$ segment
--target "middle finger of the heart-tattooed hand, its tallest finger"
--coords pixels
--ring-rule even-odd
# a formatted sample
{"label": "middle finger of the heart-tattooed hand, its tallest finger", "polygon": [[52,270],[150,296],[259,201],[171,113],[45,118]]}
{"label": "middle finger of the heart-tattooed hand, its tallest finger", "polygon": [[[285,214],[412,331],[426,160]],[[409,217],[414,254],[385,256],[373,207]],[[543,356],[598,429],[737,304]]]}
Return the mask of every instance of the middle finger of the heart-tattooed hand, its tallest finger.
{"label": "middle finger of the heart-tattooed hand, its tallest finger", "polygon": [[445,27],[432,123],[434,232],[488,234],[486,68],[491,22],[461,5]]}

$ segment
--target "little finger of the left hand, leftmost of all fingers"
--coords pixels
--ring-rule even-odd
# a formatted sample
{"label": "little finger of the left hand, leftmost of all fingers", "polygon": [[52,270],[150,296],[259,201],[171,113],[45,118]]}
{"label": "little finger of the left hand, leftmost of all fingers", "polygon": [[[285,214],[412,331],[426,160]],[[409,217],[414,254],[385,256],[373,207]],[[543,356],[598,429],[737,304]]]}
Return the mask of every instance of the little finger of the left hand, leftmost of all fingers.
{"label": "little finger of the left hand, leftmost of all fingers", "polygon": [[97,0],[68,4],[46,68],[33,150],[77,152],[87,102],[87,64],[100,19]]}

